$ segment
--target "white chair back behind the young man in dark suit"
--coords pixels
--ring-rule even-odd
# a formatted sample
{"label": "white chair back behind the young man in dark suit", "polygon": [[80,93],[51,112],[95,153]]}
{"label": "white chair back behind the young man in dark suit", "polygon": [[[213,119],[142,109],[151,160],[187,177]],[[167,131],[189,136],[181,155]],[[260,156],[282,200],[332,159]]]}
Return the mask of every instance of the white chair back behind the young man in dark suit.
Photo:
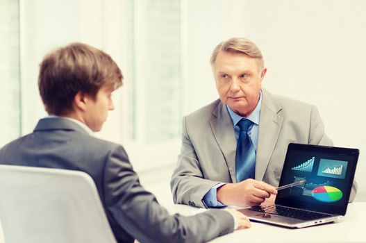
{"label": "white chair back behind the young man in dark suit", "polygon": [[0,165],[0,221],[6,243],[116,242],[81,171]]}

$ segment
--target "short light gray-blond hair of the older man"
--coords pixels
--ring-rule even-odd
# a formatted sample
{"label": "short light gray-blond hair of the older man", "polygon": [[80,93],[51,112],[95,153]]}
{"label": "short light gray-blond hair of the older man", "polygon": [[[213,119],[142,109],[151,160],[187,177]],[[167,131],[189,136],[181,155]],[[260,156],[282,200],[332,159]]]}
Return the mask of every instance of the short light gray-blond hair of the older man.
{"label": "short light gray-blond hair of the older man", "polygon": [[248,39],[242,37],[230,38],[224,42],[219,43],[213,50],[213,54],[210,58],[211,66],[215,66],[217,54],[220,51],[232,52],[232,53],[244,53],[252,58],[256,58],[258,61],[258,66],[260,68],[265,67],[265,62],[263,60],[262,53],[260,49]]}

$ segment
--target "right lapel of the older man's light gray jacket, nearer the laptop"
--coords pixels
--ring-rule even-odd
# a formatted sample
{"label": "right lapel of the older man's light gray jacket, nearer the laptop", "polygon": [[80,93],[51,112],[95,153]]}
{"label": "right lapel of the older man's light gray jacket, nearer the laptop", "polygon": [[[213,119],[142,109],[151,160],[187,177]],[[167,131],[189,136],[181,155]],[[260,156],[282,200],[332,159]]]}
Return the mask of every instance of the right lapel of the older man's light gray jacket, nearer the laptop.
{"label": "right lapel of the older man's light gray jacket, nearer the laptop", "polygon": [[260,110],[256,156],[256,180],[259,181],[263,180],[283,122],[283,117],[278,114],[282,110],[281,105],[265,89],[262,89],[262,91],[263,101]]}

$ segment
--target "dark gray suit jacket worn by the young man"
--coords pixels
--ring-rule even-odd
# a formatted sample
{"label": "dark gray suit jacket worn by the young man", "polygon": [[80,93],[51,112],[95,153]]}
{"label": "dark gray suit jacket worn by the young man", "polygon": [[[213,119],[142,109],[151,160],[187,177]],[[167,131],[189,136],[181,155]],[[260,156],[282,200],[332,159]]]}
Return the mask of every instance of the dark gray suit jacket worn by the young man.
{"label": "dark gray suit jacket worn by the young man", "polygon": [[0,164],[90,174],[118,242],[206,242],[233,231],[233,217],[223,210],[169,215],[140,185],[122,146],[92,137],[67,119],[41,119],[33,133],[0,149]]}

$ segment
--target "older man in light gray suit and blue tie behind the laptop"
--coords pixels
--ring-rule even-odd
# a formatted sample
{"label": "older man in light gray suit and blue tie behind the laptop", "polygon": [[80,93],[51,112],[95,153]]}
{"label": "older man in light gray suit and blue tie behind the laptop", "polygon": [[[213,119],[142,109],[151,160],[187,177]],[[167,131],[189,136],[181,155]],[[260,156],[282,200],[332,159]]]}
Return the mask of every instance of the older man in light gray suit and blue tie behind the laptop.
{"label": "older man in light gray suit and blue tie behind the laptop", "polygon": [[[274,199],[290,142],[333,144],[318,110],[262,87],[267,69],[250,40],[221,42],[210,62],[219,99],[183,118],[174,202],[254,206]],[[356,188],[353,183],[351,200]]]}

